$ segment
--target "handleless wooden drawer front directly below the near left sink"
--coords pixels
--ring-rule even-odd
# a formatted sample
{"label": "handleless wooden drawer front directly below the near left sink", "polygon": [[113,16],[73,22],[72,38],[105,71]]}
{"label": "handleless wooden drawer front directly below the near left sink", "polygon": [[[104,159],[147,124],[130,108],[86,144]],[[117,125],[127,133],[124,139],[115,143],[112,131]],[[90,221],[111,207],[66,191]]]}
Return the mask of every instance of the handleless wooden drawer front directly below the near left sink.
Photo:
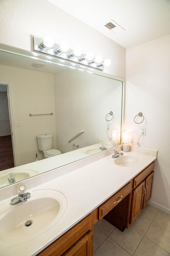
{"label": "handleless wooden drawer front directly below the near left sink", "polygon": [[61,256],[93,227],[93,214],[89,214],[37,256]]}

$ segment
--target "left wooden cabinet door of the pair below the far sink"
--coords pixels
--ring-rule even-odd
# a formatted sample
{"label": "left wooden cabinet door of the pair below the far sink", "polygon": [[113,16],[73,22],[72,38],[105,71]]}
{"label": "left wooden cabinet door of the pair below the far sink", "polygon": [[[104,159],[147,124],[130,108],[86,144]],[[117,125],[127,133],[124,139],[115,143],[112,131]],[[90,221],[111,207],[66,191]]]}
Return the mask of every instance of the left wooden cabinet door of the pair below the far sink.
{"label": "left wooden cabinet door of the pair below the far sink", "polygon": [[141,182],[132,192],[130,224],[135,220],[142,210],[144,191],[145,181]]}

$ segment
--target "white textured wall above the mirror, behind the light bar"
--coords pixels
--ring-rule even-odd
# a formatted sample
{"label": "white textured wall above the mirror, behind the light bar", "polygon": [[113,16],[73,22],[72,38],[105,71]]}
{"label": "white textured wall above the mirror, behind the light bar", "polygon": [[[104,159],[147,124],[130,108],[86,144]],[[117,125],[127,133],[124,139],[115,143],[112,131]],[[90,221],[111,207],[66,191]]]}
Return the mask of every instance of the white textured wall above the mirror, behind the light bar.
{"label": "white textured wall above the mirror, behind the light bar", "polygon": [[83,52],[93,51],[103,59],[110,58],[106,73],[125,78],[126,50],[78,19],[51,3],[41,0],[1,0],[0,43],[32,50],[32,36],[51,34],[56,43],[68,41],[70,47],[80,45]]}

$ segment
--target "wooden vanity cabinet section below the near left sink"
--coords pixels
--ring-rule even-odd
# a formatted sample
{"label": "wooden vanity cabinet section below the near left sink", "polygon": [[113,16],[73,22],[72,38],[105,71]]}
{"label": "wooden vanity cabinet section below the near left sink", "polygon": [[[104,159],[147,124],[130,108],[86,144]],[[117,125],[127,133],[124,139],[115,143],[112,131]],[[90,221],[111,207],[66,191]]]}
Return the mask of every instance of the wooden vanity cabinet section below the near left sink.
{"label": "wooden vanity cabinet section below the near left sink", "polygon": [[93,212],[37,254],[37,256],[73,255],[93,255]]}

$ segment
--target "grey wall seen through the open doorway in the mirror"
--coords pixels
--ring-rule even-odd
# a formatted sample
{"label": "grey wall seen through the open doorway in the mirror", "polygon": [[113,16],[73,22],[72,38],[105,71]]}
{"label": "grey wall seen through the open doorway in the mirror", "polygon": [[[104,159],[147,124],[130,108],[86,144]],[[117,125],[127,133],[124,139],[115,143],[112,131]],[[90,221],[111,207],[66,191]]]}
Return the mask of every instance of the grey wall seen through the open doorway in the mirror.
{"label": "grey wall seen through the open doorway in the mirror", "polygon": [[7,92],[0,91],[0,136],[10,135],[10,118]]}

